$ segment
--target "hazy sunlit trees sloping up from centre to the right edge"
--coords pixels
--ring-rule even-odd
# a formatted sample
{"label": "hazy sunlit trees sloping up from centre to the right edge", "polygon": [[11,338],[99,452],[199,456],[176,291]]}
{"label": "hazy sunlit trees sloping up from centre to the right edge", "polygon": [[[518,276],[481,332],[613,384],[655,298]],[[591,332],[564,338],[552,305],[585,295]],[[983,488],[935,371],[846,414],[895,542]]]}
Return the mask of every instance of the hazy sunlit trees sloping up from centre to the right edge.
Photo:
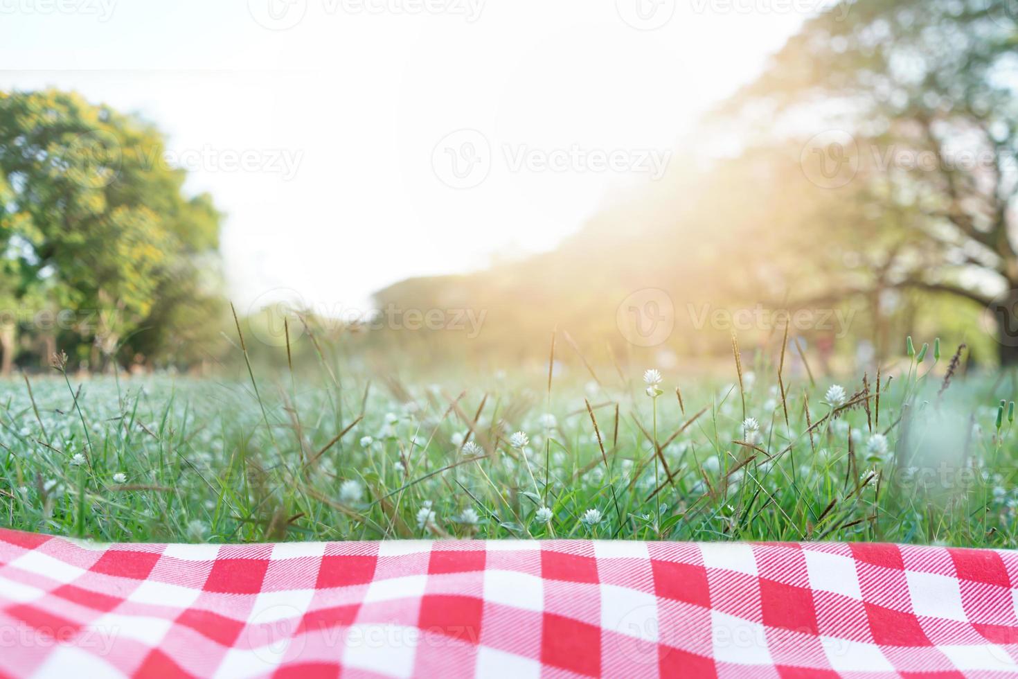
{"label": "hazy sunlit trees sloping up from centre to the right edge", "polygon": [[[1018,363],[1016,19],[1008,0],[842,2],[706,116],[699,137],[734,156],[673,161],[553,252],[378,301],[486,309],[456,349],[480,354],[540,358],[556,326],[600,357],[642,350],[619,306],[661,289],[675,327],[652,350],[729,353],[733,329],[701,310],[761,305],[851,318],[801,330],[807,347],[880,359],[942,333]],[[741,331],[744,346],[780,341],[773,325]]]}

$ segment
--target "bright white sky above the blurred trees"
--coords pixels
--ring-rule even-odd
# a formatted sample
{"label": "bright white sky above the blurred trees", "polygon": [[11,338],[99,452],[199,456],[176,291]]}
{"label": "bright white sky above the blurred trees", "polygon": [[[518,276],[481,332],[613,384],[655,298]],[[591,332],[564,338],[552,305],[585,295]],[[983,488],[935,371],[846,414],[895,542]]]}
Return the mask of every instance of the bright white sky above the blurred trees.
{"label": "bright white sky above the blurred trees", "polygon": [[683,162],[817,2],[0,0],[0,89],[156,122],[228,215],[238,308],[338,315],[554,247]]}

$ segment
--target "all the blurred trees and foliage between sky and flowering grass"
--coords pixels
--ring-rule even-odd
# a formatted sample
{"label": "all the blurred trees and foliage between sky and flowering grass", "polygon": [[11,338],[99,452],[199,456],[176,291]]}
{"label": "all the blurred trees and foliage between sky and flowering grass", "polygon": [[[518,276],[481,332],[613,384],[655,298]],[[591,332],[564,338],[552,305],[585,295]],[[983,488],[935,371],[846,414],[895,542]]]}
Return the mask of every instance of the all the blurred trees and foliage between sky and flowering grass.
{"label": "all the blurred trees and foliage between sky and flowering grass", "polygon": [[[906,334],[958,338],[970,360],[1014,364],[1016,19],[1007,0],[840,3],[706,116],[698,148],[676,150],[663,179],[553,251],[376,296],[380,309],[473,309],[476,336],[366,330],[281,302],[238,309],[241,330],[262,340],[248,349],[285,363],[285,317],[298,362],[323,351],[308,335],[350,355],[540,361],[557,328],[593,361],[652,353],[710,365],[727,360],[733,330],[712,312],[769,309],[832,315],[793,332],[832,370],[900,353]],[[235,357],[222,216],[156,160],[164,144],[154,126],[75,94],[0,94],[0,305],[82,312],[56,329],[6,315],[4,371],[57,349],[92,370]],[[647,289],[665,292],[675,327],[638,347],[618,314]],[[743,347],[780,341],[783,323],[768,318],[734,328]]]}

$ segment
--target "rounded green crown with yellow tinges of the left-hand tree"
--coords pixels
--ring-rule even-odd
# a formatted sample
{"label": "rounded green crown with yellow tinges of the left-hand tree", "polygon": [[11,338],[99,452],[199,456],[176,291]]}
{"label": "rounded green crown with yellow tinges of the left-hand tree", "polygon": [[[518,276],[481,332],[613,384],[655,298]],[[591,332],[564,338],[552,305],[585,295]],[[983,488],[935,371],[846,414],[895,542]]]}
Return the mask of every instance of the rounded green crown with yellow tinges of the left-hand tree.
{"label": "rounded green crown with yellow tinges of the left-hand tree", "polygon": [[15,301],[45,288],[73,309],[93,366],[170,318],[173,289],[197,290],[189,263],[218,247],[221,215],[183,194],[185,172],[164,154],[154,126],[74,93],[0,93],[5,287]]}

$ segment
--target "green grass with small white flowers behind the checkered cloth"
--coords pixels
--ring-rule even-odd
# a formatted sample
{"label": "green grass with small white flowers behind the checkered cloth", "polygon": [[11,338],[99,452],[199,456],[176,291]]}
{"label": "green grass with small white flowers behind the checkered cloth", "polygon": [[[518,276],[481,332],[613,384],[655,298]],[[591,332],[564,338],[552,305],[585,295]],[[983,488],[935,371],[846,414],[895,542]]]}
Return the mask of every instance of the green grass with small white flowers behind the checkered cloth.
{"label": "green grass with small white flowers behind the checkered cloth", "polygon": [[0,524],[101,541],[1011,547],[1014,377],[955,375],[940,393],[950,357],[932,353],[879,390],[786,370],[785,398],[759,357],[727,384],[581,364],[443,385],[325,363],[315,382],[55,370],[31,393],[3,385]]}

